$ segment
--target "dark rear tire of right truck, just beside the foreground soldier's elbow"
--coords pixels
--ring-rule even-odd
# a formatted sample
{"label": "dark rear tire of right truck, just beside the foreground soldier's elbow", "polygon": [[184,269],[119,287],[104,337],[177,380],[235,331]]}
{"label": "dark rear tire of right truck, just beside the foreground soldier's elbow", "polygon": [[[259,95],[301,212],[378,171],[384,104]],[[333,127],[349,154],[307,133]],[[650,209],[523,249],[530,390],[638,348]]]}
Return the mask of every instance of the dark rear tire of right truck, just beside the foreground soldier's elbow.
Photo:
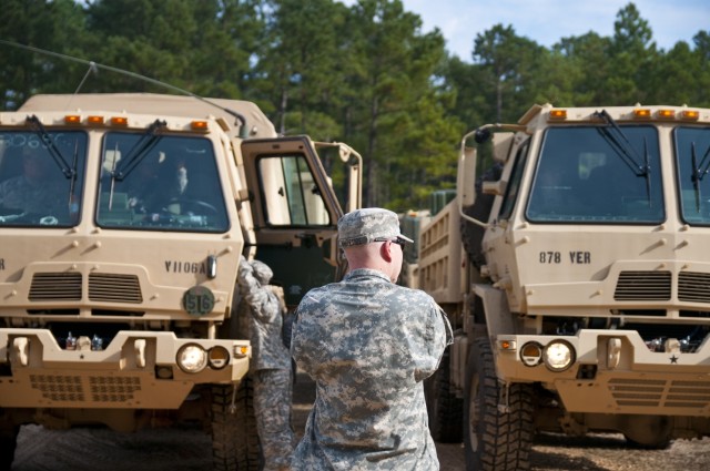
{"label": "dark rear tire of right truck, just beside the foreground soldier's elbow", "polygon": [[460,443],[464,401],[449,388],[449,349],[444,351],[439,369],[424,381],[429,431],[442,443]]}

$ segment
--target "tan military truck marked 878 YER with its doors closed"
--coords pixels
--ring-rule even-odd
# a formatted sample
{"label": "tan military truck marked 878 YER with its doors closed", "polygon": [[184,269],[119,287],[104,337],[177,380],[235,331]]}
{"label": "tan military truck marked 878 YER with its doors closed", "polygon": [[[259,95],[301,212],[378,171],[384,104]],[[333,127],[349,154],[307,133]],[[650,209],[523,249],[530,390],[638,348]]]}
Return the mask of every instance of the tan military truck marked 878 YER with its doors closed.
{"label": "tan military truck marked 878 YER with its doors closed", "polygon": [[467,469],[527,469],[537,432],[710,434],[709,173],[706,109],[535,105],[463,137],[416,269],[456,328],[430,428]]}

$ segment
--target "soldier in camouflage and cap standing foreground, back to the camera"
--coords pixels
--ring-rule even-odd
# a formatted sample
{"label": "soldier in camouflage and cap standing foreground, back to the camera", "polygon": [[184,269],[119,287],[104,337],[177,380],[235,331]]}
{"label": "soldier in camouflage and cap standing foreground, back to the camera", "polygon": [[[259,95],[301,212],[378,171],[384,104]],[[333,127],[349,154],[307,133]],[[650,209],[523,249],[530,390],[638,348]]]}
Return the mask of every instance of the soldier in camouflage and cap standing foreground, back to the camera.
{"label": "soldier in camouflage and cap standing foreground, back to the camera", "polygon": [[301,301],[291,354],[316,382],[294,470],[438,470],[423,380],[452,327],[434,299],[395,284],[405,243],[397,215],[357,209],[338,222],[349,272]]}

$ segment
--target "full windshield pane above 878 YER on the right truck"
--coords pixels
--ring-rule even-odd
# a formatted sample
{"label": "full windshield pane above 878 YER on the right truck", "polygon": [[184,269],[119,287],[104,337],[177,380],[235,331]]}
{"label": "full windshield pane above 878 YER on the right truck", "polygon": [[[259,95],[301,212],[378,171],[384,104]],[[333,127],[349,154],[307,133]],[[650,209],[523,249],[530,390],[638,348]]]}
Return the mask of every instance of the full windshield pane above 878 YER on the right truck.
{"label": "full windshield pane above 878 YER on the right truck", "polygon": [[619,126],[619,132],[635,160],[600,126],[548,129],[526,217],[562,224],[663,222],[658,132],[653,126]]}

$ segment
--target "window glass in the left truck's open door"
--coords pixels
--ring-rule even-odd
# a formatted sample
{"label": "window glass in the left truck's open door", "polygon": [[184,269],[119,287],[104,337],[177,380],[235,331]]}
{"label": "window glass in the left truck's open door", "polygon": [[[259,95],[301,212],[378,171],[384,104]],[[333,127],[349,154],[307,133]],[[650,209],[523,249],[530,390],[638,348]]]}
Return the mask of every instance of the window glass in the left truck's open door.
{"label": "window glass in the left truck's open door", "polygon": [[331,224],[321,191],[303,155],[264,156],[257,162],[268,225]]}

